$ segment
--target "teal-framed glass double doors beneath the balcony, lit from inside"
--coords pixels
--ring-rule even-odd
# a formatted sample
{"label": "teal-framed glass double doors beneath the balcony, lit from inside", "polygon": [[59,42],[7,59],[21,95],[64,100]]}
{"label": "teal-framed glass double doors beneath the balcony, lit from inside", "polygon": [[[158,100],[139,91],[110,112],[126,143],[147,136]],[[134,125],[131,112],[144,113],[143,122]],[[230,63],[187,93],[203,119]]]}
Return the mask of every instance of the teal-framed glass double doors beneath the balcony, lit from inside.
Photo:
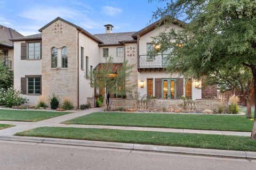
{"label": "teal-framed glass double doors beneath the balcony, lit from inside", "polygon": [[176,84],[175,79],[163,79],[163,82],[162,82],[163,99],[176,98],[175,84]]}

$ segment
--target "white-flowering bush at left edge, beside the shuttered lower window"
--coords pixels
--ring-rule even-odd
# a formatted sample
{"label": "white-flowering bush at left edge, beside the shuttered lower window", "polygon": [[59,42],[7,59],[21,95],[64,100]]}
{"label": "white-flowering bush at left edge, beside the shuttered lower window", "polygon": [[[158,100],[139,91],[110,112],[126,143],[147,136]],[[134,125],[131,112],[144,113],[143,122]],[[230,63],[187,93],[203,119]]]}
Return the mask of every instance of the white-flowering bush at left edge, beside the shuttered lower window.
{"label": "white-flowering bush at left edge, beside the shuttered lower window", "polygon": [[20,106],[28,102],[26,97],[23,97],[21,91],[13,87],[7,90],[0,89],[0,105],[5,107]]}

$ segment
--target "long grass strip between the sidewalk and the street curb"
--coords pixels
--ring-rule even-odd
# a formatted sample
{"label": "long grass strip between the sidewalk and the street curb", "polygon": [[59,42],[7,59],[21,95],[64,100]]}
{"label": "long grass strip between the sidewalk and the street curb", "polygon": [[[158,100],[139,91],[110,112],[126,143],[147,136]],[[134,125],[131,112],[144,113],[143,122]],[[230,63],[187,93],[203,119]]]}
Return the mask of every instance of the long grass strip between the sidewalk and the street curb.
{"label": "long grass strip between the sidewalk and the street curb", "polygon": [[249,137],[228,135],[126,131],[109,129],[41,127],[15,135],[45,138],[140,143],[147,145],[256,151],[256,141]]}

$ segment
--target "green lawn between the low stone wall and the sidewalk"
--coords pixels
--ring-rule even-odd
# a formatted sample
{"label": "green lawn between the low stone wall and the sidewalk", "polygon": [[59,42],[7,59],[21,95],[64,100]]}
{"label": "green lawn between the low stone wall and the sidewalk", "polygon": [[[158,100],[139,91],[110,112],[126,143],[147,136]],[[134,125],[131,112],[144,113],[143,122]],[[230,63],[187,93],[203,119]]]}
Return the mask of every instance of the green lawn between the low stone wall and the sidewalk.
{"label": "green lawn between the low stone wall and the sidewalk", "polygon": [[253,121],[246,119],[244,115],[103,112],[76,117],[62,123],[245,132],[250,132],[253,126]]}

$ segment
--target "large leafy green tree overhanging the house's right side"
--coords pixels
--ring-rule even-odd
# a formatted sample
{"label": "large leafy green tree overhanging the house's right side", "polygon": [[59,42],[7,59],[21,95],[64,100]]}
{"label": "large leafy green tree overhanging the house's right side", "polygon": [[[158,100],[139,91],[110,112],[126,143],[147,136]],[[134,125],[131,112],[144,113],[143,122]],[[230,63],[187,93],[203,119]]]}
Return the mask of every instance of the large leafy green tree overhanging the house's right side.
{"label": "large leafy green tree overhanging the house's right side", "polygon": [[[246,66],[251,70],[255,89],[256,1],[171,0],[157,8],[153,19],[164,18],[165,23],[173,23],[174,18],[184,15],[189,23],[182,31],[162,32],[154,38],[155,44],[167,43],[160,50],[173,48],[168,71],[199,79],[218,70],[228,72],[230,68]],[[256,139],[256,109],[251,138]]]}

